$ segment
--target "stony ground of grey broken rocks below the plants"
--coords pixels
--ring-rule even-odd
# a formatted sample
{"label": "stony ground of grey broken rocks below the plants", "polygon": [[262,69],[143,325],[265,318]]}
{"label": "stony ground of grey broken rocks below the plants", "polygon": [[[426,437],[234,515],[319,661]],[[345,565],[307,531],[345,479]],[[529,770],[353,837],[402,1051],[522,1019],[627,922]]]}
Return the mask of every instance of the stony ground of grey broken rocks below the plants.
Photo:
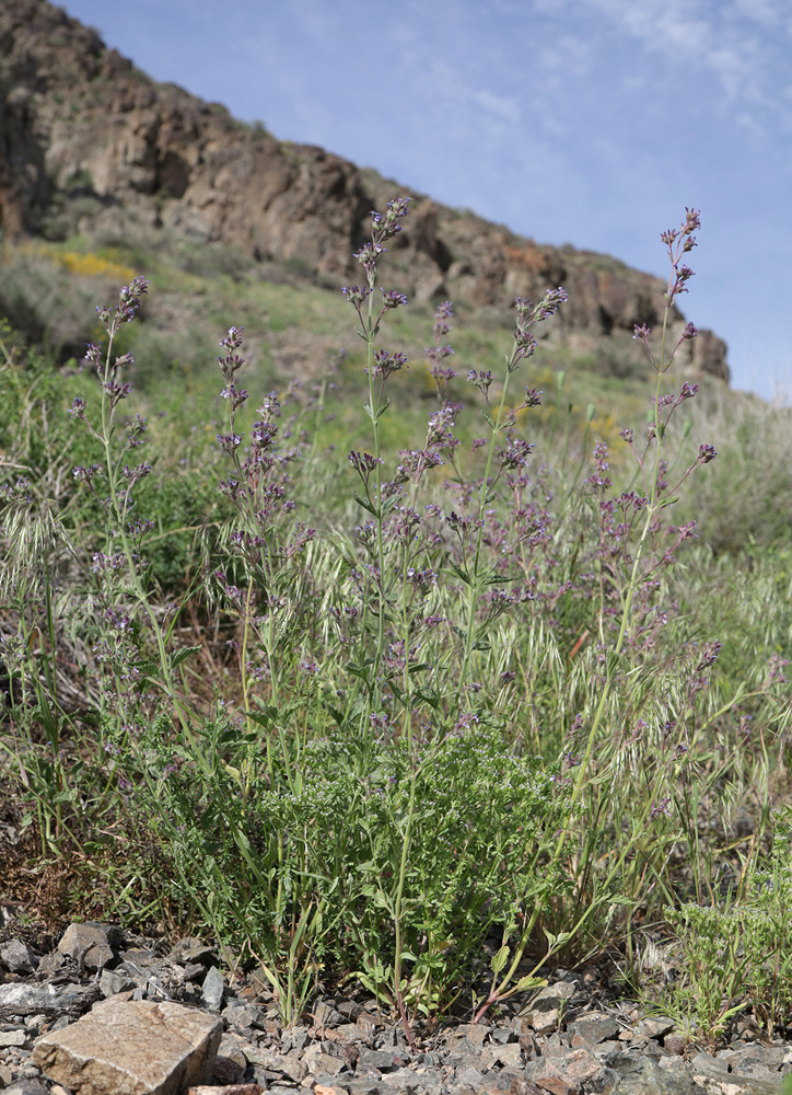
{"label": "stony ground of grey broken rocks below the plants", "polygon": [[614,1000],[593,970],[556,970],[490,1022],[418,1030],[411,1049],[364,995],[315,1000],[283,1029],[266,981],[224,977],[197,940],[172,947],[72,924],[37,954],[9,927],[3,1095],[182,1095],[196,1083],[229,1095],[770,1095],[792,1071],[792,1045],[752,1039],[749,1027],[717,1052],[686,1044],[669,1019]]}

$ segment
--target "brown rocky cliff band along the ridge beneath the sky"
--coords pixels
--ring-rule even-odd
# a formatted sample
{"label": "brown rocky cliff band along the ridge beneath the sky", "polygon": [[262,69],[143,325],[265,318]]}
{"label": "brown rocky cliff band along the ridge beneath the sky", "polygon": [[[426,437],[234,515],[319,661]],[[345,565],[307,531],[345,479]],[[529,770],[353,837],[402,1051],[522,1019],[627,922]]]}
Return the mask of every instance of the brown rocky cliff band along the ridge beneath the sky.
{"label": "brown rocky cliff band along the ridge beneath the sky", "polygon": [[[403,191],[401,193],[409,193]],[[92,195],[94,218],[130,214],[261,262],[353,276],[369,214],[395,196],[373,172],[275,140],[219,104],[154,83],[47,0],[0,4],[0,231],[36,233],[59,199]],[[399,288],[419,299],[500,306],[563,285],[562,335],[594,345],[656,324],[664,285],[614,258],[551,247],[416,196],[399,245]],[[680,331],[684,319],[675,314]],[[729,380],[725,344],[683,347]]]}

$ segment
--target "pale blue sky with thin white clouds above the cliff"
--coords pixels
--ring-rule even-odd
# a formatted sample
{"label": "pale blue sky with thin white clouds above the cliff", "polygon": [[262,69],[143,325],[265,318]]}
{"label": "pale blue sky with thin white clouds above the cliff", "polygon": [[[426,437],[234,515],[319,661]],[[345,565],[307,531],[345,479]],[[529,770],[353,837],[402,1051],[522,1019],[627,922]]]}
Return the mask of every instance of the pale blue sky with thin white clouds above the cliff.
{"label": "pale blue sky with thin white clouds above the cliff", "polygon": [[792,401],[792,0],[61,0],[158,80],[539,243],[667,276]]}

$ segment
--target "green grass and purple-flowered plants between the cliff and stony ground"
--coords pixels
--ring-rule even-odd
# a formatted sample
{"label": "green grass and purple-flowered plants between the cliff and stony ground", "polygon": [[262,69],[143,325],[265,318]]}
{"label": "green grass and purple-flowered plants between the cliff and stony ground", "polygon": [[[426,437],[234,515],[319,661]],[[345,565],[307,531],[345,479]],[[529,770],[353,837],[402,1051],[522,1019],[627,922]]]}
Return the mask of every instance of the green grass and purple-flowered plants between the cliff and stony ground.
{"label": "green grass and purple-flowered plants between the cliff and stony ground", "polygon": [[[219,270],[208,297],[191,253],[170,288],[166,255],[130,280],[66,372],[0,332],[0,777],[38,858],[8,877],[53,917],[216,935],[287,1023],[357,981],[411,1039],[607,956],[697,1038],[749,1010],[783,1029],[784,413],[719,408],[665,327],[644,379],[592,396],[537,348],[562,290],[511,335],[381,296],[406,214],[374,219],[351,311],[298,273]],[[666,234],[668,309],[697,227]],[[345,308],[352,350],[315,353]]]}

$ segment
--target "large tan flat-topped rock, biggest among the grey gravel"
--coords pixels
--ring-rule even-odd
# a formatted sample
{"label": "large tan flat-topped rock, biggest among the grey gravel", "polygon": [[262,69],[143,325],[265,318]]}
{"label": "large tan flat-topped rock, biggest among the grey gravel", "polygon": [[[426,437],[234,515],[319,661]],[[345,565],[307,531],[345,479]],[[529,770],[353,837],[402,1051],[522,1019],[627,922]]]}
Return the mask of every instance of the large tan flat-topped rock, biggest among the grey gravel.
{"label": "large tan flat-topped rock, biggest among the grey gravel", "polygon": [[110,998],[39,1038],[33,1062],[75,1095],[180,1095],[210,1079],[221,1030],[182,1004]]}

